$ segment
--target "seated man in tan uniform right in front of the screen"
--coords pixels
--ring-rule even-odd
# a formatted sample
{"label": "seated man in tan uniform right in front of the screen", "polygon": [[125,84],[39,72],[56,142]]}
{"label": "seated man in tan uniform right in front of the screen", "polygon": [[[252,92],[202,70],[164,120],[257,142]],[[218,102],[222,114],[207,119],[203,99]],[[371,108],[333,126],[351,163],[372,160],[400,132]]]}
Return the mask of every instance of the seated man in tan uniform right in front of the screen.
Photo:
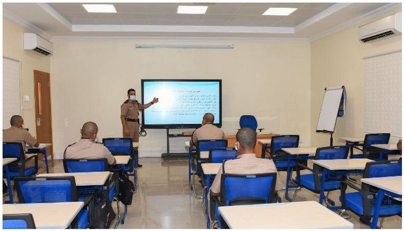
{"label": "seated man in tan uniform right in front of the screen", "polygon": [[222,140],[224,132],[221,128],[213,125],[215,116],[212,113],[206,113],[202,119],[202,126],[192,133],[189,145],[196,146],[200,140]]}

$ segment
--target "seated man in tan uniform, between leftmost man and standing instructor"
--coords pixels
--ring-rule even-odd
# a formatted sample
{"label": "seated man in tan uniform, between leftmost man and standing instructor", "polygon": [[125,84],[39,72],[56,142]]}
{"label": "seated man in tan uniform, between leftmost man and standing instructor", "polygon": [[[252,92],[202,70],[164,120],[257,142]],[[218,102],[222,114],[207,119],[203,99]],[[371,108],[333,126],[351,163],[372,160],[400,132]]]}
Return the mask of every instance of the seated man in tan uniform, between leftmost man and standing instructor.
{"label": "seated man in tan uniform, between leftmost man and standing instructor", "polygon": [[111,152],[102,144],[95,141],[98,127],[94,122],[86,122],[80,129],[80,141],[69,145],[64,154],[65,159],[100,159],[106,158],[109,165],[115,165],[117,162]]}

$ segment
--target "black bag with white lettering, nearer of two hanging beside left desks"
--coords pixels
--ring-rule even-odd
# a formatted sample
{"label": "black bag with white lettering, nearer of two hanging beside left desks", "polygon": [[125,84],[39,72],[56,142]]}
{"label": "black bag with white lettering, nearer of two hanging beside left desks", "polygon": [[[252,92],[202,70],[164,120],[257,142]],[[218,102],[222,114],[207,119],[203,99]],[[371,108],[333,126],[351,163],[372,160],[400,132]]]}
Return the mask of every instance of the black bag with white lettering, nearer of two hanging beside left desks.
{"label": "black bag with white lettering, nearer of two hanging beside left desks", "polygon": [[94,223],[91,228],[110,228],[112,220],[114,220],[116,214],[112,208],[108,195],[108,191],[103,191],[101,200],[95,202]]}

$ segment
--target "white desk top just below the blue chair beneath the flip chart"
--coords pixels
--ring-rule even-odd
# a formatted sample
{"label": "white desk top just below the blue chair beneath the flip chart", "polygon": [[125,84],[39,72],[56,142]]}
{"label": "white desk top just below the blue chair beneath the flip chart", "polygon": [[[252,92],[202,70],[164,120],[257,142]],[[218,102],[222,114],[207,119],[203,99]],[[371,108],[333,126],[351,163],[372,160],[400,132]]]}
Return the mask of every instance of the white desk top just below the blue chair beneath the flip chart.
{"label": "white desk top just below the blue chair beneath the flip chart", "polygon": [[369,159],[344,159],[344,160],[313,160],[313,163],[329,170],[363,170]]}

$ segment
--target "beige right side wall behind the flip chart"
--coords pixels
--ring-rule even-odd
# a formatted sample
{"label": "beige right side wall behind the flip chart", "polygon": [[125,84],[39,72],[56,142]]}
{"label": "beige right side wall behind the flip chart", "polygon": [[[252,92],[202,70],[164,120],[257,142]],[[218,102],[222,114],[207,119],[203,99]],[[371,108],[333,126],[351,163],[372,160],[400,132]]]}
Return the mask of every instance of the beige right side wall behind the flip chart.
{"label": "beige right side wall behind the flip chart", "polygon": [[[375,19],[370,21],[373,20]],[[324,87],[341,85],[346,87],[346,116],[337,119],[334,145],[343,144],[338,141],[338,137],[364,136],[365,66],[363,58],[401,49],[401,35],[373,43],[359,42],[358,26],[360,25],[311,42],[310,131],[311,145],[314,147],[330,144],[329,134],[315,132]],[[396,143],[397,140],[396,137],[391,137],[390,143]]]}

